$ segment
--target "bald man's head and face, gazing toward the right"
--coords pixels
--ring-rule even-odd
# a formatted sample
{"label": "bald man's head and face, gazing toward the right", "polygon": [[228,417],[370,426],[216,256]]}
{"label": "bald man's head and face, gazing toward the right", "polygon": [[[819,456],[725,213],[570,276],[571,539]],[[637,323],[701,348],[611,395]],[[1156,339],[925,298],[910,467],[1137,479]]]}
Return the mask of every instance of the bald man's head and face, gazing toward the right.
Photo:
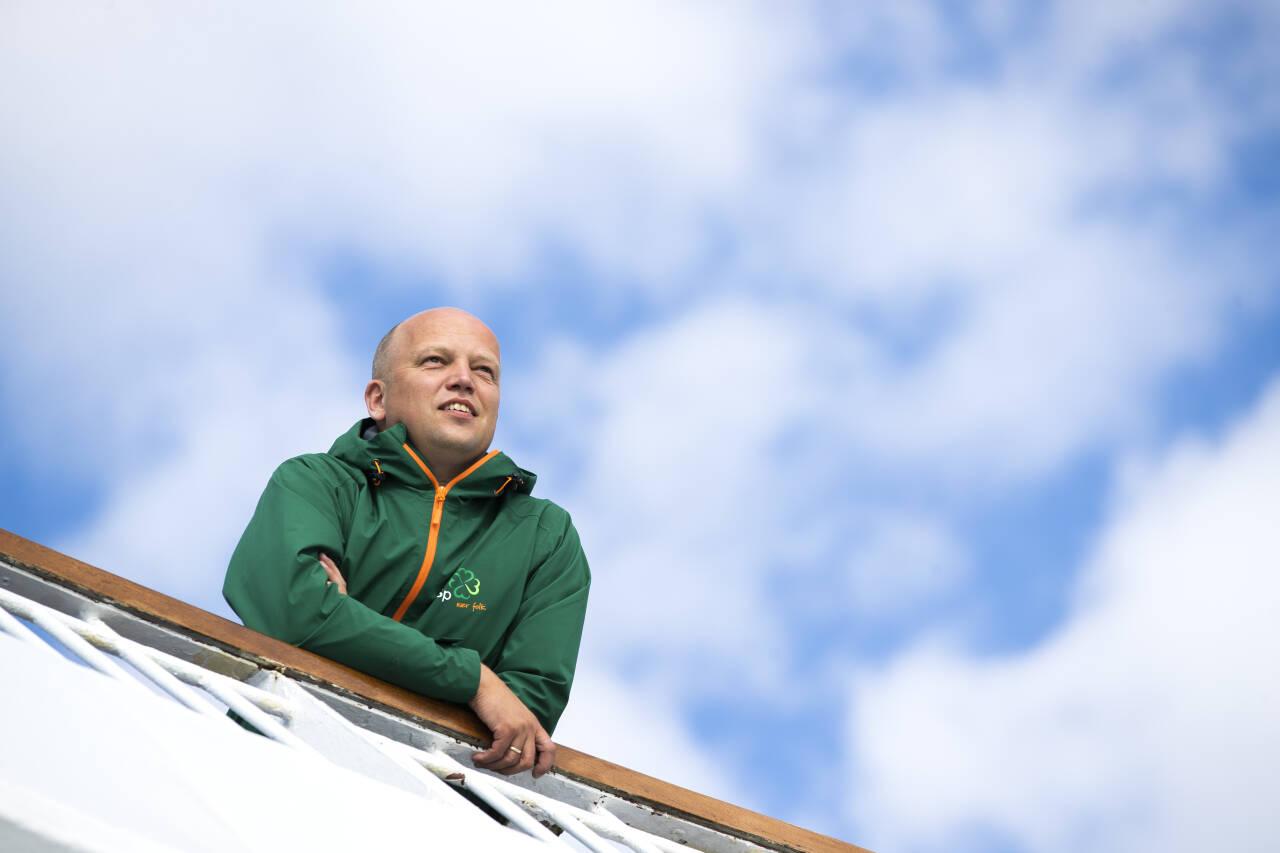
{"label": "bald man's head and face, gazing toward the right", "polygon": [[410,443],[443,483],[489,450],[498,425],[498,339],[457,309],[407,320],[392,339],[385,380],[365,389],[379,429],[403,423]]}

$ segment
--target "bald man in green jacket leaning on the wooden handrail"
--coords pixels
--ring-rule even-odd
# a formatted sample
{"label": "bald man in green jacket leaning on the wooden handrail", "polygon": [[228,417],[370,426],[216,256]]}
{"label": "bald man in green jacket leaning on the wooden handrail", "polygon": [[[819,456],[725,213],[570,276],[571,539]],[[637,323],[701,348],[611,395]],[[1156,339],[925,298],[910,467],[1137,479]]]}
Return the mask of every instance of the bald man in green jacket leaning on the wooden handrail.
{"label": "bald man in green jacket leaning on the wooden handrail", "polygon": [[493,731],[474,761],[547,772],[590,573],[568,514],[489,451],[498,339],[458,309],[378,345],[369,418],[271,475],[223,594],[250,628],[426,695]]}

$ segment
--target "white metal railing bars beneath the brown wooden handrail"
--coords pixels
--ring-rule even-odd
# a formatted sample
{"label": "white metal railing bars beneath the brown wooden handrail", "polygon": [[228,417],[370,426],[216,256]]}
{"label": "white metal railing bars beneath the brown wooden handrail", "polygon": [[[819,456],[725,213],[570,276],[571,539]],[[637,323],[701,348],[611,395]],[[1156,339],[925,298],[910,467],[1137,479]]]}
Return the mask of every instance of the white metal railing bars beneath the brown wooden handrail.
{"label": "white metal railing bars beneath the brown wooden handrail", "polygon": [[[12,567],[5,566],[5,569]],[[102,607],[100,603],[92,605],[93,610]],[[311,694],[315,688],[308,688],[311,690],[308,693],[307,689],[302,689],[303,685],[292,683],[278,672],[253,667],[253,679],[259,681],[255,686],[191,660],[122,637],[97,615],[91,613],[87,619],[81,619],[0,588],[0,633],[40,646],[54,657],[61,658],[65,665],[74,666],[24,621],[56,640],[73,660],[108,678],[150,693],[156,701],[173,701],[192,712],[218,717],[227,725],[234,725],[225,713],[227,708],[230,708],[262,735],[293,749],[321,754],[348,767],[352,762],[340,760],[338,753],[366,749],[374,754],[362,756],[358,761],[364,767],[375,767],[372,771],[366,770],[367,775],[381,776],[384,781],[402,788],[407,786],[406,779],[412,780],[411,784],[417,785],[419,793],[436,799],[440,797],[440,790],[467,789],[502,815],[509,827],[545,845],[562,849],[585,848],[594,853],[614,853],[620,847],[644,853],[677,853],[690,849],[684,831],[673,833],[675,839],[682,841],[677,843],[627,825],[604,806],[609,799],[608,795],[591,797],[586,808],[563,802],[461,763],[449,752],[465,753],[474,751],[474,747],[457,739],[417,729],[412,733],[412,738],[417,742],[425,740],[428,748],[410,745],[402,739],[352,722],[330,707],[334,703],[332,698],[324,697],[328,701],[321,702]],[[367,715],[370,710],[364,708],[364,712]],[[246,733],[246,736],[252,735]],[[383,762],[380,766],[388,768],[387,771],[376,768],[379,761]],[[396,772],[402,775],[392,779]],[[568,783],[564,783],[564,790],[570,790],[567,785]],[[448,795],[456,800],[457,808],[476,808],[456,793]],[[561,827],[563,835],[548,830],[544,821]],[[713,833],[709,838],[712,844],[699,847],[714,850],[764,849],[719,833]]]}

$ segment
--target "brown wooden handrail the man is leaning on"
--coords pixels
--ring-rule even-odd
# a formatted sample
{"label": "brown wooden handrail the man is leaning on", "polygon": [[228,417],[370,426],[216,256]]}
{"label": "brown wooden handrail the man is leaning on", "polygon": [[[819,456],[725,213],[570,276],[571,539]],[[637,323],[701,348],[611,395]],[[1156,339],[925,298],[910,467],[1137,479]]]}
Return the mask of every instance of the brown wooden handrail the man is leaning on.
{"label": "brown wooden handrail the man is leaning on", "polygon": [[[175,628],[291,678],[328,683],[361,698],[416,717],[462,740],[488,743],[489,730],[463,706],[388,684],[329,658],[289,646],[215,613],[96,569],[0,528],[0,556],[36,575],[105,601],[148,621]],[[559,745],[556,770],[660,812],[722,827],[744,839],[783,850],[868,853],[864,848],[740,808],[634,770]]]}

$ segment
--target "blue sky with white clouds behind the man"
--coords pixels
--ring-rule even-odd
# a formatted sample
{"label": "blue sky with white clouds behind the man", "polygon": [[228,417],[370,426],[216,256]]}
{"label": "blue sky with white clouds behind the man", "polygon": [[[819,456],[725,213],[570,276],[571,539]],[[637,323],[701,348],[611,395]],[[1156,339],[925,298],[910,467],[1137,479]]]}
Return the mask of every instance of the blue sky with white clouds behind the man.
{"label": "blue sky with white clouds behind the man", "polygon": [[0,525],[229,615],[460,305],[558,740],[882,850],[1274,849],[1275,3],[0,13]]}

